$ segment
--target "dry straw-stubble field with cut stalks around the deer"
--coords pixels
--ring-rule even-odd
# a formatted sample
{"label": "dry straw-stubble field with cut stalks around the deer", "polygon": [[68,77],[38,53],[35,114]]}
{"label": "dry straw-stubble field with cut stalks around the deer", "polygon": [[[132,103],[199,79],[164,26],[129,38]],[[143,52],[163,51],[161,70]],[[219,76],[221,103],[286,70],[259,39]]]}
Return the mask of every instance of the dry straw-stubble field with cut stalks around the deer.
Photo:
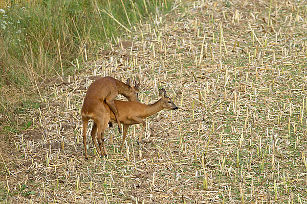
{"label": "dry straw-stubble field with cut stalks around the deer", "polygon": [[[127,36],[132,47],[113,45],[84,73],[40,85],[39,110],[20,116],[33,115],[36,131],[1,148],[4,199],[305,203],[306,18],[299,1],[195,1],[143,22]],[[93,76],[138,73],[143,103],[165,87],[180,109],[148,118],[141,150],[135,125],[122,152],[117,135],[108,157],[85,160],[80,109]]]}

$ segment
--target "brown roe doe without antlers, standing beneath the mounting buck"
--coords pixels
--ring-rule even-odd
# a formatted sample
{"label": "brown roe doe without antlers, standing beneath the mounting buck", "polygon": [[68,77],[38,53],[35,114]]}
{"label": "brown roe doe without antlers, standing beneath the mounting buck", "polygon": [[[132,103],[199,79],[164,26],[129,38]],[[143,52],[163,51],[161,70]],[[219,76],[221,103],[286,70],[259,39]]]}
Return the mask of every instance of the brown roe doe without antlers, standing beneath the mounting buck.
{"label": "brown roe doe without antlers, standing beneath the mounting buck", "polygon": [[[124,146],[124,141],[127,135],[128,127],[131,124],[139,124],[139,123],[143,124],[142,132],[138,139],[138,144],[139,144],[142,140],[142,135],[146,127],[146,123],[143,120],[144,118],[147,118],[155,113],[158,113],[163,109],[169,109],[169,110],[178,109],[178,107],[173,103],[173,101],[166,96],[166,91],[164,88],[159,89],[159,95],[161,98],[156,103],[151,105],[141,104],[138,101],[114,100],[115,107],[118,111],[119,120],[123,124],[123,140],[120,147],[121,149]],[[102,114],[101,112],[103,112],[104,114]],[[101,155],[102,156],[107,155],[103,135],[108,122],[110,120],[111,121],[116,120],[115,115],[105,103],[103,103],[102,106],[96,107],[96,110],[95,112],[92,113],[92,115],[94,118],[93,129],[91,131],[92,139],[95,140],[95,135],[98,129],[97,140],[99,143]],[[94,115],[96,115],[96,117]],[[97,117],[97,115],[103,115],[103,118]],[[101,141],[102,141],[103,150],[101,147]],[[86,152],[86,143],[84,143],[84,148]]]}

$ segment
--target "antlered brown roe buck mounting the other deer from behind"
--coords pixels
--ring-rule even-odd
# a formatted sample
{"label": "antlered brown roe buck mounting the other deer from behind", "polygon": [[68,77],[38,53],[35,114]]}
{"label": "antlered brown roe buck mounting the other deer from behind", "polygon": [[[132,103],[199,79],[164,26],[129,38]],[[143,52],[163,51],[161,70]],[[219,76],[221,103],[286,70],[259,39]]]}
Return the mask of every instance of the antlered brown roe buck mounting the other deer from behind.
{"label": "antlered brown roe buck mounting the other deer from behind", "polygon": [[[113,77],[104,77],[95,80],[87,89],[81,110],[82,126],[83,126],[83,143],[86,144],[86,127],[89,119],[103,118],[104,112],[97,111],[99,107],[105,103],[109,110],[114,113],[115,120],[118,123],[118,131],[121,133],[121,125],[118,117],[118,111],[114,104],[117,94],[124,95],[128,100],[138,101],[138,91],[140,86],[135,80],[135,86],[131,86],[132,78],[130,77],[126,84],[114,79]],[[96,140],[93,140],[96,149],[98,149]],[[87,159],[87,151],[85,146],[85,158]]]}

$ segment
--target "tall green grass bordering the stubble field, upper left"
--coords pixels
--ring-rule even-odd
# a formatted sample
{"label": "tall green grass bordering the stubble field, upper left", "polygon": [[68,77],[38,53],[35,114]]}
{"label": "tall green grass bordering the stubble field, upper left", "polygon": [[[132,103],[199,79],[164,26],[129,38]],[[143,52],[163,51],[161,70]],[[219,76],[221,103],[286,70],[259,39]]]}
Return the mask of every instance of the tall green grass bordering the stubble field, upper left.
{"label": "tall green grass bordering the stubble field, upper left", "polygon": [[[131,25],[171,1],[37,0],[0,10],[0,83],[34,85],[61,76],[83,62],[109,38],[129,32]],[[11,2],[11,4],[13,4]]]}

